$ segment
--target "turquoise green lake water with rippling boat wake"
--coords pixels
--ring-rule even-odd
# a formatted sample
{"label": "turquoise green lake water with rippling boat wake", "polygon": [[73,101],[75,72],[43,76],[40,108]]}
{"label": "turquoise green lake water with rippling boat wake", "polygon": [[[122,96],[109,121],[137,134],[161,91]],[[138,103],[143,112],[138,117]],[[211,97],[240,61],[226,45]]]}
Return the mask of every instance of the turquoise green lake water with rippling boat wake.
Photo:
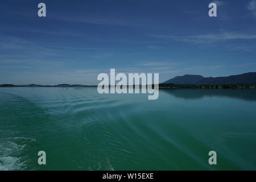
{"label": "turquoise green lake water with rippling boat wake", "polygon": [[256,169],[255,113],[255,89],[0,88],[0,170]]}

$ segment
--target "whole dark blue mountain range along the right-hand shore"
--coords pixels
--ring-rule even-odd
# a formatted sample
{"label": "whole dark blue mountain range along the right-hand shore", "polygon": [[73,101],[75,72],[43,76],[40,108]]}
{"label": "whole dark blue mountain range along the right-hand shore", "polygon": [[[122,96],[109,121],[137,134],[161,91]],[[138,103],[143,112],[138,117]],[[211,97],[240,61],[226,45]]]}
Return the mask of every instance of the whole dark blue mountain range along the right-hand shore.
{"label": "whole dark blue mountain range along the right-hand shore", "polygon": [[203,77],[201,75],[176,76],[163,82],[163,84],[256,84],[256,72],[243,73],[226,77]]}

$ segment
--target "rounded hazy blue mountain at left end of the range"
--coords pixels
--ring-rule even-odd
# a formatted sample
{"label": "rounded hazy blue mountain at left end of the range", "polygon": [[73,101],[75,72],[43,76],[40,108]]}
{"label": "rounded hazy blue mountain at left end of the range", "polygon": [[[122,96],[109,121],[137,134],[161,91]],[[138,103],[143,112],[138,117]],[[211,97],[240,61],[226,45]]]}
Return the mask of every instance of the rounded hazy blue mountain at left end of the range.
{"label": "rounded hazy blue mountain at left end of the range", "polygon": [[200,80],[203,80],[205,77],[201,75],[183,75],[176,76],[163,82],[163,84],[196,84]]}

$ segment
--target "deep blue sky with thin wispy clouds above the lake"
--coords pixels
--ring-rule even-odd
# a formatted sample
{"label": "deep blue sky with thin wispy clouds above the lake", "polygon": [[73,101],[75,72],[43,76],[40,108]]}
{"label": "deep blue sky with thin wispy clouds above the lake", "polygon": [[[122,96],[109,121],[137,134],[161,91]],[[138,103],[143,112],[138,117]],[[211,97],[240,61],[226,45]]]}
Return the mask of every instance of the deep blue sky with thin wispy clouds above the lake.
{"label": "deep blue sky with thin wispy clouds above the lake", "polygon": [[0,84],[96,85],[110,68],[160,82],[255,72],[256,0],[1,0]]}

